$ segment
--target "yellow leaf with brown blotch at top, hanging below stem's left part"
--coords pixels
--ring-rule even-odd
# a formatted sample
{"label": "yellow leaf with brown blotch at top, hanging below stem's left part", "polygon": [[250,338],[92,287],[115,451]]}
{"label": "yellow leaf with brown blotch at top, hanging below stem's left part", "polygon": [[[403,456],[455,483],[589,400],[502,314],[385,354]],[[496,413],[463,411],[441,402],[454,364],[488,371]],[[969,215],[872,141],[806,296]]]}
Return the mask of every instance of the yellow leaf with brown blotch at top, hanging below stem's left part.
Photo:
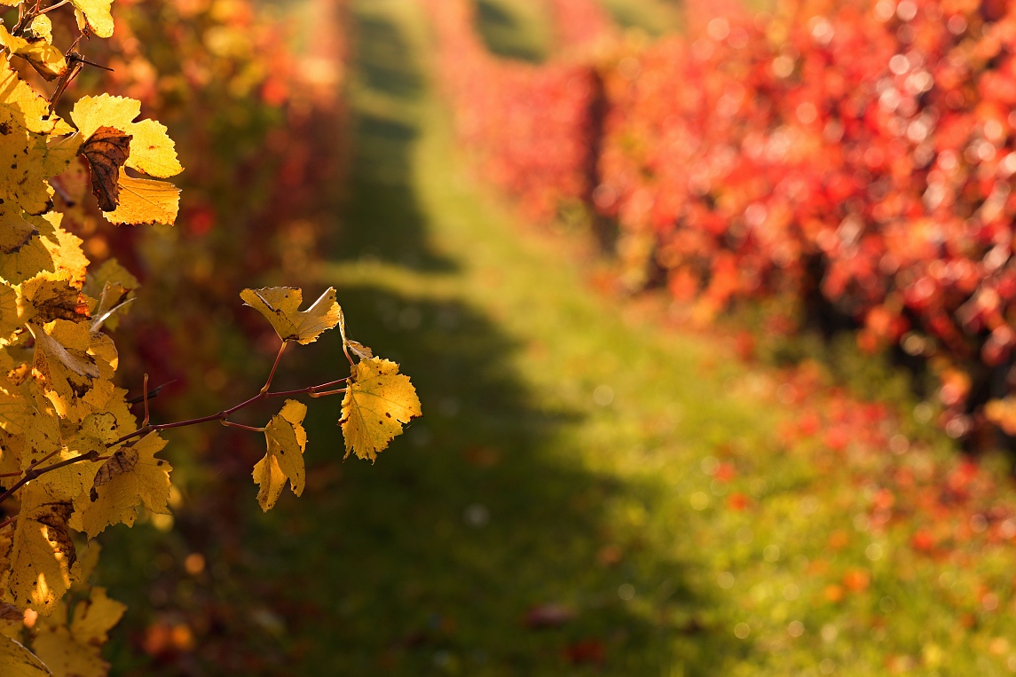
{"label": "yellow leaf with brown blotch at top, hanging below stem's left part", "polygon": [[77,498],[71,526],[94,538],[110,525],[132,526],[142,503],[151,512],[169,514],[173,468],[155,457],[164,446],[166,440],[150,432],[118,449],[94,475],[91,491]]}

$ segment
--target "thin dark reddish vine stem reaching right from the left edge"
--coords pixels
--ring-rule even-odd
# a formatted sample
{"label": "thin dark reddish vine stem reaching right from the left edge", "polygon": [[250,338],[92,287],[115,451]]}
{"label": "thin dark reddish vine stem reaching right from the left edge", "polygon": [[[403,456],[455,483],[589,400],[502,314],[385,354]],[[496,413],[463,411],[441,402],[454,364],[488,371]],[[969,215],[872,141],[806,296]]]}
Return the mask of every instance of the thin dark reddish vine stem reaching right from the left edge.
{"label": "thin dark reddish vine stem reaching right from the left edge", "polygon": [[[143,384],[142,384],[142,393],[143,393],[142,394],[142,399],[144,402],[144,419],[142,421],[141,427],[138,428],[137,430],[135,430],[132,433],[128,433],[127,435],[124,435],[123,437],[121,437],[120,439],[116,440],[115,442],[110,442],[109,444],[106,445],[106,448],[108,448],[108,449],[112,448],[114,446],[117,446],[118,444],[122,444],[122,443],[124,443],[124,442],[126,442],[128,440],[131,440],[131,439],[135,438],[135,437],[140,437],[140,436],[146,435],[149,432],[156,432],[156,431],[160,431],[160,430],[169,430],[171,428],[184,428],[186,426],[195,426],[195,425],[198,425],[198,424],[201,424],[201,423],[209,423],[211,421],[218,421],[224,426],[227,426],[227,427],[230,427],[230,428],[240,428],[241,430],[250,430],[252,432],[264,432],[264,430],[265,430],[264,428],[255,428],[254,426],[247,426],[247,425],[244,425],[242,423],[234,423],[233,421],[230,421],[228,417],[231,414],[239,412],[240,410],[242,410],[242,409],[244,409],[246,407],[249,407],[249,406],[253,405],[256,402],[260,402],[262,399],[267,399],[269,397],[289,397],[289,396],[292,396],[292,395],[300,395],[300,394],[310,395],[311,397],[326,397],[328,395],[337,394],[339,392],[345,392],[345,388],[334,388],[334,386],[338,385],[340,383],[345,383],[346,381],[350,380],[348,377],[346,377],[346,378],[339,378],[339,379],[336,379],[334,381],[327,381],[325,383],[318,383],[317,385],[308,385],[307,387],[297,388],[296,390],[277,390],[275,392],[270,392],[268,390],[268,388],[271,387],[271,381],[275,377],[275,370],[278,368],[278,363],[282,359],[282,352],[285,350],[285,344],[287,343],[288,342],[282,342],[282,345],[279,347],[278,354],[275,356],[275,363],[271,366],[271,371],[268,373],[268,379],[265,381],[265,384],[263,386],[261,386],[261,389],[258,391],[258,393],[256,395],[254,395],[253,397],[250,397],[248,399],[245,399],[244,402],[242,402],[239,405],[236,405],[234,407],[231,407],[230,409],[225,409],[221,412],[218,412],[217,414],[211,414],[209,416],[202,416],[202,417],[199,417],[199,418],[196,418],[196,419],[188,419],[186,421],[176,421],[174,423],[157,423],[157,424],[150,424],[150,423],[148,423],[148,420],[149,420],[149,412],[148,412],[148,374],[145,374],[144,375],[144,381],[143,381]],[[162,387],[162,386],[160,386],[160,387]],[[332,389],[331,390],[325,390],[325,388],[332,388]],[[43,458],[39,458],[37,460],[31,461],[31,464],[29,464],[29,466],[28,466],[28,469],[24,471],[24,476],[20,480],[18,480],[17,482],[15,482],[14,485],[10,489],[7,489],[5,492],[3,492],[2,494],[0,494],[0,503],[3,503],[5,500],[7,500],[11,496],[13,496],[14,492],[16,492],[18,489],[20,489],[24,485],[26,485],[28,482],[31,482],[33,480],[35,480],[35,479],[37,479],[37,478],[39,478],[39,477],[41,477],[43,475],[46,475],[47,473],[52,473],[53,471],[60,470],[61,468],[66,468],[67,466],[70,466],[70,465],[73,465],[73,464],[77,464],[77,463],[81,463],[81,461],[84,461],[84,460],[90,460],[90,461],[104,460],[105,461],[105,460],[108,460],[110,458],[110,456],[100,455],[100,453],[99,453],[98,450],[92,450],[92,451],[88,451],[87,453],[82,453],[81,455],[74,456],[73,458],[65,458],[64,460],[61,460],[61,461],[56,463],[56,464],[53,464],[52,466],[47,466],[46,468],[40,468],[40,466],[42,464],[46,463],[47,460],[49,460],[50,458],[52,458],[53,456],[55,456],[57,453],[59,453],[59,450],[53,451],[53,452],[47,454],[46,456],[44,456]],[[0,475],[0,477],[16,477],[18,475],[21,475],[21,473],[5,473],[5,474]],[[12,521],[14,521],[16,518],[17,518],[17,515],[14,515],[13,517],[10,517],[10,518],[8,518],[8,519],[2,521],[2,522],[0,522],[0,529],[3,529],[7,525],[9,525]]]}

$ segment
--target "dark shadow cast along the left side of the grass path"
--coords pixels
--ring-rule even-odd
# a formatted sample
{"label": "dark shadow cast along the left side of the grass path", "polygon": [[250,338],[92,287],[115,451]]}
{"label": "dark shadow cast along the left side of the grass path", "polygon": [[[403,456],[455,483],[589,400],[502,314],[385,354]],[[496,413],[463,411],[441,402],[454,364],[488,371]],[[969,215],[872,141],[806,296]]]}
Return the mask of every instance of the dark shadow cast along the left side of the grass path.
{"label": "dark shadow cast along the left side of the grass path", "polygon": [[[370,5],[359,4],[356,23],[362,82],[417,100],[416,55]],[[390,256],[418,273],[458,270],[427,246],[412,175],[422,130],[363,110],[356,125],[337,260]],[[710,675],[747,651],[709,627],[709,602],[680,562],[608,513],[625,496],[651,505],[653,490],[580,467],[569,431],[581,414],[546,406],[520,381],[512,365],[521,347],[455,296],[381,282],[339,289],[347,325],[401,363],[424,418],[376,465],[338,464],[337,398],[312,402],[300,499],[287,492],[262,516],[246,466],[211,507],[180,515],[176,545],[151,546],[171,561],[191,548],[206,553],[198,593],[213,600],[203,607],[211,620],[185,660],[121,674],[670,675],[683,666],[679,674]],[[303,355],[294,364],[308,370],[344,363],[334,341]],[[691,533],[683,519],[675,515],[674,533]],[[136,549],[116,556],[120,583],[145,604],[139,591],[157,568]],[[186,619],[196,595],[185,579],[151,603]],[[232,649],[227,637],[237,637]]]}

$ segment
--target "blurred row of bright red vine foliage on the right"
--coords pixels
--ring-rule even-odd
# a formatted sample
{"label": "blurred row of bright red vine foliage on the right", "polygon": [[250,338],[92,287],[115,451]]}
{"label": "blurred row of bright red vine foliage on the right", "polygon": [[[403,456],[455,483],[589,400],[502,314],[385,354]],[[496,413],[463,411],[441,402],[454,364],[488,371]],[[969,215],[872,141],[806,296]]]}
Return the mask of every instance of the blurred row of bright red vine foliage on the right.
{"label": "blurred row of bright red vine foliage on the right", "polygon": [[463,140],[529,216],[582,199],[616,220],[630,288],[662,280],[704,319],[797,298],[866,350],[927,359],[957,437],[1008,394],[1016,8],[796,0],[537,67],[441,5]]}

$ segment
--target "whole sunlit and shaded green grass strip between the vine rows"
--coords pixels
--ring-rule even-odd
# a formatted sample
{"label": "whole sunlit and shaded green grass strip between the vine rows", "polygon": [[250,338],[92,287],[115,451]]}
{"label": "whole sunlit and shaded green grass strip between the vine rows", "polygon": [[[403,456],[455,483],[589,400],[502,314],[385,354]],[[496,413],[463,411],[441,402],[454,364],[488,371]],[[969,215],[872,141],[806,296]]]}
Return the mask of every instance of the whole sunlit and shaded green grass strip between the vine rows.
{"label": "whole sunlit and shaded green grass strip between the vine rows", "polygon": [[[360,0],[355,21],[352,198],[321,285],[353,337],[401,363],[425,416],[376,465],[339,464],[337,403],[312,403],[304,496],[262,515],[244,485],[220,529],[239,545],[200,544],[208,567],[187,584],[246,610],[230,626],[248,633],[244,674],[1006,670],[1011,615],[974,603],[962,625],[955,606],[1004,579],[1008,551],[948,592],[948,561],[869,530],[870,487],[775,435],[796,412],[770,376],[596,296],[568,240],[467,178],[418,3]],[[320,343],[305,364],[344,363]],[[140,592],[153,534],[110,542],[127,564],[106,582],[132,613],[169,604]],[[161,547],[172,561],[197,546]],[[118,666],[237,674],[201,653],[227,632],[209,627],[191,663],[158,672],[119,639]]]}

